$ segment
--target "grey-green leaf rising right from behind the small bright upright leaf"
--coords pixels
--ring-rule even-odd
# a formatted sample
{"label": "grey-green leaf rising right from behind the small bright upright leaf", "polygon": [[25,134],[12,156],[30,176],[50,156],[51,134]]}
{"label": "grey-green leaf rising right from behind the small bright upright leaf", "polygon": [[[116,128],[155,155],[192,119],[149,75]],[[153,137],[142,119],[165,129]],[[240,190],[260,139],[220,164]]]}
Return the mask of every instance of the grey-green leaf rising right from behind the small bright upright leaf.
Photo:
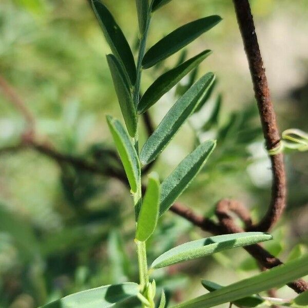
{"label": "grey-green leaf rising right from behind the small bright upright leaf", "polygon": [[163,215],[169,209],[191,181],[198,175],[215,146],[216,141],[213,140],[208,140],[200,144],[162,182],[160,215]]}

